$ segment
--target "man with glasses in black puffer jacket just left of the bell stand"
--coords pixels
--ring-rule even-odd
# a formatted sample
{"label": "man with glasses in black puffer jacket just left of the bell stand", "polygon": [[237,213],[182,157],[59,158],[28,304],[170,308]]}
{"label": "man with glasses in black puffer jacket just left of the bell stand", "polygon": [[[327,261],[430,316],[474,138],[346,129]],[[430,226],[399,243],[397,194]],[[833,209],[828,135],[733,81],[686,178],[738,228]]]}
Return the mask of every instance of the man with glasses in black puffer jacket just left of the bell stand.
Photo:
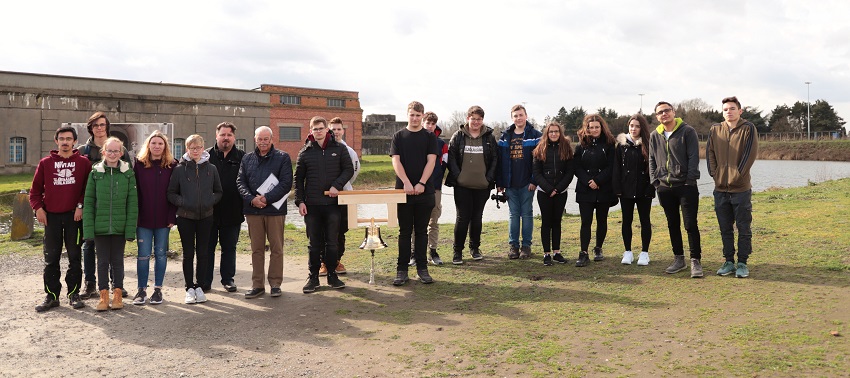
{"label": "man with glasses in black puffer jacket just left of the bell stand", "polygon": [[[354,175],[354,165],[345,145],[334,140],[328,132],[327,121],[322,117],[310,120],[310,135],[295,162],[295,204],[304,217],[310,275],[304,285],[304,294],[319,287],[319,265],[325,261],[328,285],[334,289],[345,288],[336,273],[339,242],[340,209],[337,195]],[[328,195],[325,195],[328,191]]]}

